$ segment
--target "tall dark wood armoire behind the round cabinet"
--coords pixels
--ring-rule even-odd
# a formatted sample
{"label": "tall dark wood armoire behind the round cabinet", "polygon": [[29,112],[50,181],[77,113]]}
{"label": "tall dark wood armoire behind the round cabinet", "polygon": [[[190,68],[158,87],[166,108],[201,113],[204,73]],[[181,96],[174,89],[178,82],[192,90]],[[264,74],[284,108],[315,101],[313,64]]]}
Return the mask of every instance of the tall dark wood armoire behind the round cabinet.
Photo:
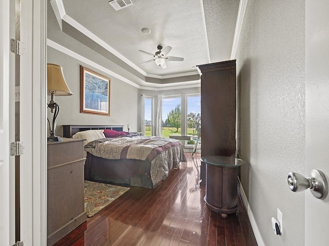
{"label": "tall dark wood armoire behind the round cabinet", "polygon": [[[201,156],[235,156],[235,60],[199,65],[201,75]],[[200,185],[206,167],[201,163]]]}

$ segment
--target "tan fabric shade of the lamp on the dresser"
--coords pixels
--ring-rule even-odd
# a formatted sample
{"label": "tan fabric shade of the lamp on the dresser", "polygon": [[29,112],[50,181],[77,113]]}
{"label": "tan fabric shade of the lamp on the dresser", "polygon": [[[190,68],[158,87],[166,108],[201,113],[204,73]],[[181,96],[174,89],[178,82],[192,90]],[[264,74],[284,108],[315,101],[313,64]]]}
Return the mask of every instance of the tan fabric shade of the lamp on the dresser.
{"label": "tan fabric shade of the lamp on the dresser", "polygon": [[63,75],[63,68],[56,64],[47,64],[47,94],[57,96],[73,95],[68,89]]}

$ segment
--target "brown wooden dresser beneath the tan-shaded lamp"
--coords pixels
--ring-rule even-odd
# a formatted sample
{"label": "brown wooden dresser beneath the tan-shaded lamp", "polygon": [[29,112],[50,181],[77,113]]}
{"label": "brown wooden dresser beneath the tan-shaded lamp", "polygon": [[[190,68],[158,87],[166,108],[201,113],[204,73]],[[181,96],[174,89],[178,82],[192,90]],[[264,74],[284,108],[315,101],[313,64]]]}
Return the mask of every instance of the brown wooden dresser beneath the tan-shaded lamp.
{"label": "brown wooden dresser beneath the tan-shaded lamp", "polygon": [[48,142],[47,245],[53,245],[86,221],[84,211],[84,139]]}

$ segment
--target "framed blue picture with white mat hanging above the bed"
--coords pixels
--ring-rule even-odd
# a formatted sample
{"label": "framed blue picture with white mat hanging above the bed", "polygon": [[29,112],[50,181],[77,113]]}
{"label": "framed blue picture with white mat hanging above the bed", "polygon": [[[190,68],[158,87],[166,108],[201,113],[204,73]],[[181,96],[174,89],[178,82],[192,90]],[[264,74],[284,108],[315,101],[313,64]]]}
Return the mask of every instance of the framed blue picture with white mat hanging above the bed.
{"label": "framed blue picture with white mat hanging above the bed", "polygon": [[81,66],[80,112],[109,115],[110,79]]}

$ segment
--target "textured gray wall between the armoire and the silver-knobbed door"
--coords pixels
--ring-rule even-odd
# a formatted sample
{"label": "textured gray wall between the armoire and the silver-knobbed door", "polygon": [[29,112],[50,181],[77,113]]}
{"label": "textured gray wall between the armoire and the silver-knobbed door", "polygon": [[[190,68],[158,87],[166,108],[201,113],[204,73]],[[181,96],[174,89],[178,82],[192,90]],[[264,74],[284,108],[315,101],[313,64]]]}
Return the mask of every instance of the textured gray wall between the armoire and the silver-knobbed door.
{"label": "textured gray wall between the armoire and the silver-knobbed door", "polygon": [[[249,0],[236,53],[242,184],[266,246],[304,245],[305,3]],[[271,217],[283,213],[283,235]]]}

